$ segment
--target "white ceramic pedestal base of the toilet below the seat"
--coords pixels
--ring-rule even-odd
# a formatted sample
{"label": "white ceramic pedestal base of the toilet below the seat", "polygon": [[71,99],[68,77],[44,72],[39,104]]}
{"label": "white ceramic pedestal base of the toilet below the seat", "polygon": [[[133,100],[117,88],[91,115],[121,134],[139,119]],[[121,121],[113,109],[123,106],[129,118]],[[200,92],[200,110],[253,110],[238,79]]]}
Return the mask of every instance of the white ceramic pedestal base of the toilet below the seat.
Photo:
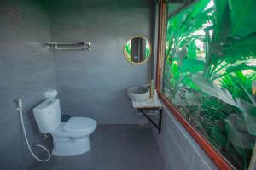
{"label": "white ceramic pedestal base of the toilet below the seat", "polygon": [[83,138],[54,137],[52,154],[55,156],[74,156],[90,150],[89,136]]}

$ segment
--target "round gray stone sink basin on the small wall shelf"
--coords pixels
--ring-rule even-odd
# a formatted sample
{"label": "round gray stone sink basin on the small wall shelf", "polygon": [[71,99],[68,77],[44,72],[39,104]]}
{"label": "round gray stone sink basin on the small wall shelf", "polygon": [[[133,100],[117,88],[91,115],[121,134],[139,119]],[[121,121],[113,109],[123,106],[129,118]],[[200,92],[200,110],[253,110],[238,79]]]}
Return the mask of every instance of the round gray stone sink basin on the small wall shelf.
{"label": "round gray stone sink basin on the small wall shelf", "polygon": [[148,88],[144,87],[132,87],[128,88],[127,95],[133,101],[145,101],[150,97]]}

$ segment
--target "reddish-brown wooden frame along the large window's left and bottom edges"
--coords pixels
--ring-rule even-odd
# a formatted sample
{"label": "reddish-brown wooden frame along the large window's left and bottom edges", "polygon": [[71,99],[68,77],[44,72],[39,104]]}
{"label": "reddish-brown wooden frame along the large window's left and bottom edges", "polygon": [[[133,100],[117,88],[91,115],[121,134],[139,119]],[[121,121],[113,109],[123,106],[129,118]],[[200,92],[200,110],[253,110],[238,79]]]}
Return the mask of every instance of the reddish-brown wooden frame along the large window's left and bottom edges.
{"label": "reddish-brown wooden frame along the large window's left and bottom edges", "polygon": [[158,39],[158,52],[157,52],[157,71],[156,71],[156,89],[160,96],[160,99],[166,105],[166,107],[172,112],[173,116],[177,118],[183,127],[189,132],[189,134],[195,139],[197,144],[205,150],[207,156],[209,156],[218,169],[221,170],[231,170],[234,169],[229,161],[227,161],[224,156],[222,156],[218,150],[214,149],[212,144],[201,135],[194,127],[192,127],[189,122],[181,115],[181,113],[172,105],[172,102],[166,98],[164,94],[161,93],[161,83],[162,83],[162,72],[163,72],[163,59],[165,56],[165,42],[166,42],[166,3],[160,2],[160,23],[159,23],[159,39]]}

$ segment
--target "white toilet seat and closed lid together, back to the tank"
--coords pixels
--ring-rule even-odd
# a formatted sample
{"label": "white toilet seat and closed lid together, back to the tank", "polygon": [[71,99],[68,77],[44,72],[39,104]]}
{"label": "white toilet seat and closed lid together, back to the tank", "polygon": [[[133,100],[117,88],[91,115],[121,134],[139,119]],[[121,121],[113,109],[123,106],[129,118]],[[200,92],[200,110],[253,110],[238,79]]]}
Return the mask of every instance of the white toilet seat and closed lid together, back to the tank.
{"label": "white toilet seat and closed lid together, back to the tank", "polygon": [[95,120],[87,117],[72,117],[67,122],[61,122],[52,135],[66,138],[79,138],[92,133],[95,129]]}

